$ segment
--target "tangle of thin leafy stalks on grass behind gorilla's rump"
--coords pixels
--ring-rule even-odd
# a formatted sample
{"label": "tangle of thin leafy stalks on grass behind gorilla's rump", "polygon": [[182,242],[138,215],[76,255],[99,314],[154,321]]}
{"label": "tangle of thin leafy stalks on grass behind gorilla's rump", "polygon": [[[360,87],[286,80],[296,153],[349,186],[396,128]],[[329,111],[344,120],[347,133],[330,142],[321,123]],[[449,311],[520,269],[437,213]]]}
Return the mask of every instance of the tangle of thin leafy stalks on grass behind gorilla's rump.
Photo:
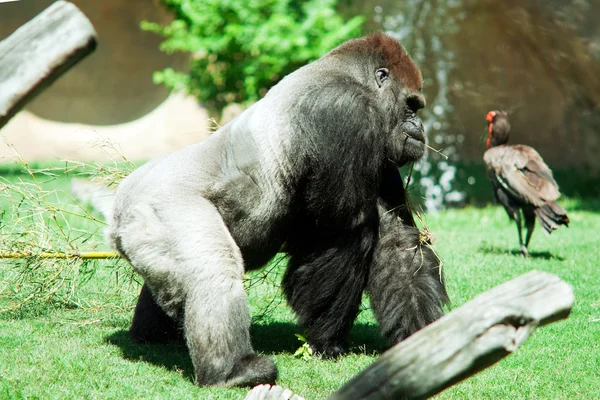
{"label": "tangle of thin leafy stalks on grass behind gorilla's rump", "polygon": [[58,184],[85,176],[114,185],[133,165],[106,143],[107,151],[116,154],[111,164],[64,161],[62,167],[36,170],[8,145],[29,179],[0,177],[0,312],[41,303],[77,305],[77,289],[101,265],[117,280],[119,275],[133,279],[131,269],[104,245],[102,216],[73,198],[68,185],[61,189]]}

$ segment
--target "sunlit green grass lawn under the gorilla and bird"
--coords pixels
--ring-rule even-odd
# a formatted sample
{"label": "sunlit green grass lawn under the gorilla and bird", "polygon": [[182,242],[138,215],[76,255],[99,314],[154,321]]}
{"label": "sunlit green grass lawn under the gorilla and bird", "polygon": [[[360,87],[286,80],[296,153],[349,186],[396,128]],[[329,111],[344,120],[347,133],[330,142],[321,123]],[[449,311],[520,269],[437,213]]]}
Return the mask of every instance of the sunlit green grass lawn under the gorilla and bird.
{"label": "sunlit green grass lawn under the gorilla and bird", "polygon": [[[65,181],[57,183],[66,188]],[[537,330],[521,349],[439,395],[442,399],[589,399],[600,393],[600,202],[565,200],[571,226],[545,236],[536,228],[525,259],[516,228],[495,206],[428,215],[444,261],[452,307],[532,269],[554,273],[575,290],[570,317]],[[72,226],[76,225],[71,220]],[[87,222],[86,222],[87,223]],[[0,277],[11,263],[0,263]],[[277,281],[281,266],[271,273]],[[135,283],[117,284],[99,267],[67,305],[35,305],[0,316],[0,399],[240,399],[247,389],[200,388],[181,345],[137,345],[127,336]],[[365,301],[337,361],[296,358],[302,333],[268,280],[249,289],[256,349],[272,357],[278,383],[322,399],[377,359],[383,349]],[[275,302],[270,302],[275,298]],[[0,300],[0,307],[10,299]],[[265,311],[266,309],[266,311]]]}

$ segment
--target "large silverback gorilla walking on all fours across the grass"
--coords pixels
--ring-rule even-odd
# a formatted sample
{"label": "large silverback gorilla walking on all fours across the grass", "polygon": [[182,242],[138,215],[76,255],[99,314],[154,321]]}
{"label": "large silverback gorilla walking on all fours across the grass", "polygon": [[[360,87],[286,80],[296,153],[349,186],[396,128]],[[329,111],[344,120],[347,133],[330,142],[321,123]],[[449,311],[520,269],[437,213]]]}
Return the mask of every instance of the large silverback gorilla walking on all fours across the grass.
{"label": "large silverback gorilla walking on all fours across the grass", "polygon": [[273,361],[250,343],[242,277],[283,244],[283,291],[322,355],[344,351],[363,291],[391,343],[439,318],[438,260],[398,172],[424,153],[421,85],[392,37],[351,40],[127,177],[109,236],[144,279],[133,339],[182,334],[199,385],[273,383]]}

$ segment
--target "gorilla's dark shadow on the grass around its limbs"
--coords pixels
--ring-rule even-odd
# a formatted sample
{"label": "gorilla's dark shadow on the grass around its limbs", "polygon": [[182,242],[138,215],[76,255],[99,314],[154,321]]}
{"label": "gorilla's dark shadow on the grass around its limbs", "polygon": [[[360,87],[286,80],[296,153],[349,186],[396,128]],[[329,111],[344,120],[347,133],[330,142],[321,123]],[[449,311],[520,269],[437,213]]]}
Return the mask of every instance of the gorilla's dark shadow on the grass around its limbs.
{"label": "gorilla's dark shadow on the grass around its limbs", "polygon": [[[253,324],[251,327],[254,349],[266,355],[294,354],[302,346],[296,334],[302,328],[296,324],[273,322]],[[184,342],[168,344],[139,344],[129,337],[127,330],[115,332],[105,342],[121,349],[123,357],[133,362],[147,362],[170,371],[181,372],[185,379],[194,381],[194,366]],[[372,324],[355,324],[350,333],[346,354],[379,354],[387,349],[385,341]]]}

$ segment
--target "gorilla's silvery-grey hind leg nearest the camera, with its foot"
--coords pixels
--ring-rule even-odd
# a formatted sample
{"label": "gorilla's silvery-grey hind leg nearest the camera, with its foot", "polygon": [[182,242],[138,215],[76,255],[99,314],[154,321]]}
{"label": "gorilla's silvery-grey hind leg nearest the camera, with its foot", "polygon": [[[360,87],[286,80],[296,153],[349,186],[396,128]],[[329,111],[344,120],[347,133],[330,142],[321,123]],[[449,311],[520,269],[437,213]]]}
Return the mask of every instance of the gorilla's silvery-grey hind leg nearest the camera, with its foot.
{"label": "gorilla's silvery-grey hind leg nearest the camera, with its foot", "polygon": [[160,211],[138,207],[124,217],[122,251],[160,308],[182,322],[197,384],[274,383],[273,361],[250,343],[240,251],[214,206],[192,200]]}

